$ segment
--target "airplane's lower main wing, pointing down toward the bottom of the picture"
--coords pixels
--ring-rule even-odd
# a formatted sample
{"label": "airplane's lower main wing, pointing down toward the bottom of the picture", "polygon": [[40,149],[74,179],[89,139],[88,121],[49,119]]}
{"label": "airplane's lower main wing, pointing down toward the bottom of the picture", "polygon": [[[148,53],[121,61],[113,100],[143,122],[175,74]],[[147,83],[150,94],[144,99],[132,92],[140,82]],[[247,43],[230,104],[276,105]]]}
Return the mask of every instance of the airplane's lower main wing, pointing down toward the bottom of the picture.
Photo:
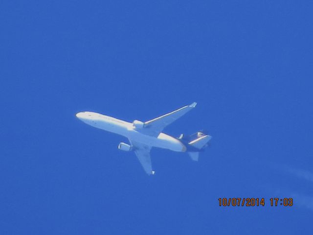
{"label": "airplane's lower main wing, pointing down toward the bottom of the picture", "polygon": [[134,152],[142,165],[143,169],[148,175],[153,175],[155,173],[154,170],[152,170],[152,164],[151,164],[151,158],[150,158],[150,150],[151,146],[136,142],[136,141],[131,141],[131,144],[133,145]]}

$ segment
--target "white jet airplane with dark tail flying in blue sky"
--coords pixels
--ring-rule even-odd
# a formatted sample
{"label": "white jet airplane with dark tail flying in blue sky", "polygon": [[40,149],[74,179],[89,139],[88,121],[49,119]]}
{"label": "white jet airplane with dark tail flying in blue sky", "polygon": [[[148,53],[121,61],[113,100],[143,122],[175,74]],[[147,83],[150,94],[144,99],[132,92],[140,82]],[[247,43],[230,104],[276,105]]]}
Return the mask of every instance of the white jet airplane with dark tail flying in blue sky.
{"label": "white jet airplane with dark tail flying in blue sky", "polygon": [[196,102],[181,107],[171,113],[162,115],[149,121],[134,120],[132,123],[94,112],[80,112],[76,117],[90,126],[113,132],[128,138],[130,144],[120,142],[118,149],[134,151],[140,164],[148,175],[154,175],[150,150],[152,147],[165,148],[177,152],[187,152],[193,161],[198,161],[199,152],[208,146],[211,136],[205,131],[185,136],[181,134],[175,138],[163,133],[163,129],[195,108]]}

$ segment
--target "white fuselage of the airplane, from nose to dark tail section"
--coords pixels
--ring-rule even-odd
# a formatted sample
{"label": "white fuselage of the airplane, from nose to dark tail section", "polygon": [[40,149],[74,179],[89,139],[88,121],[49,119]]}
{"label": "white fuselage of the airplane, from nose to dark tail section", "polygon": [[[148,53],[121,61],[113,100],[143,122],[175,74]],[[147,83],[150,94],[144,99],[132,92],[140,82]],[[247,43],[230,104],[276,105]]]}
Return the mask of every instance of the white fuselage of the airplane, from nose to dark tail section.
{"label": "white fuselage of the airplane, from nose to dark tail section", "polygon": [[80,112],[76,114],[76,117],[90,126],[125,136],[151,147],[165,148],[177,152],[186,151],[186,146],[178,139],[164,133],[160,133],[157,137],[145,135],[138,131],[131,122],[93,112]]}

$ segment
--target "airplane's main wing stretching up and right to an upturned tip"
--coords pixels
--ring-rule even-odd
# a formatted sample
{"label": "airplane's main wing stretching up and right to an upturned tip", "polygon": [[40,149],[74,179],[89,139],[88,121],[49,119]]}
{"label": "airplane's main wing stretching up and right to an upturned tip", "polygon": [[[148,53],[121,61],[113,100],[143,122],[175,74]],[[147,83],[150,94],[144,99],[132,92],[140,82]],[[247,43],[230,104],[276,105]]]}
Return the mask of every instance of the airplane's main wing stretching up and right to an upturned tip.
{"label": "airplane's main wing stretching up and right to an upturned tip", "polygon": [[195,108],[196,105],[197,103],[193,102],[191,105],[186,105],[171,113],[146,121],[144,123],[143,131],[148,135],[157,137],[162,132],[164,127],[171,124],[173,121],[177,120],[178,118]]}

